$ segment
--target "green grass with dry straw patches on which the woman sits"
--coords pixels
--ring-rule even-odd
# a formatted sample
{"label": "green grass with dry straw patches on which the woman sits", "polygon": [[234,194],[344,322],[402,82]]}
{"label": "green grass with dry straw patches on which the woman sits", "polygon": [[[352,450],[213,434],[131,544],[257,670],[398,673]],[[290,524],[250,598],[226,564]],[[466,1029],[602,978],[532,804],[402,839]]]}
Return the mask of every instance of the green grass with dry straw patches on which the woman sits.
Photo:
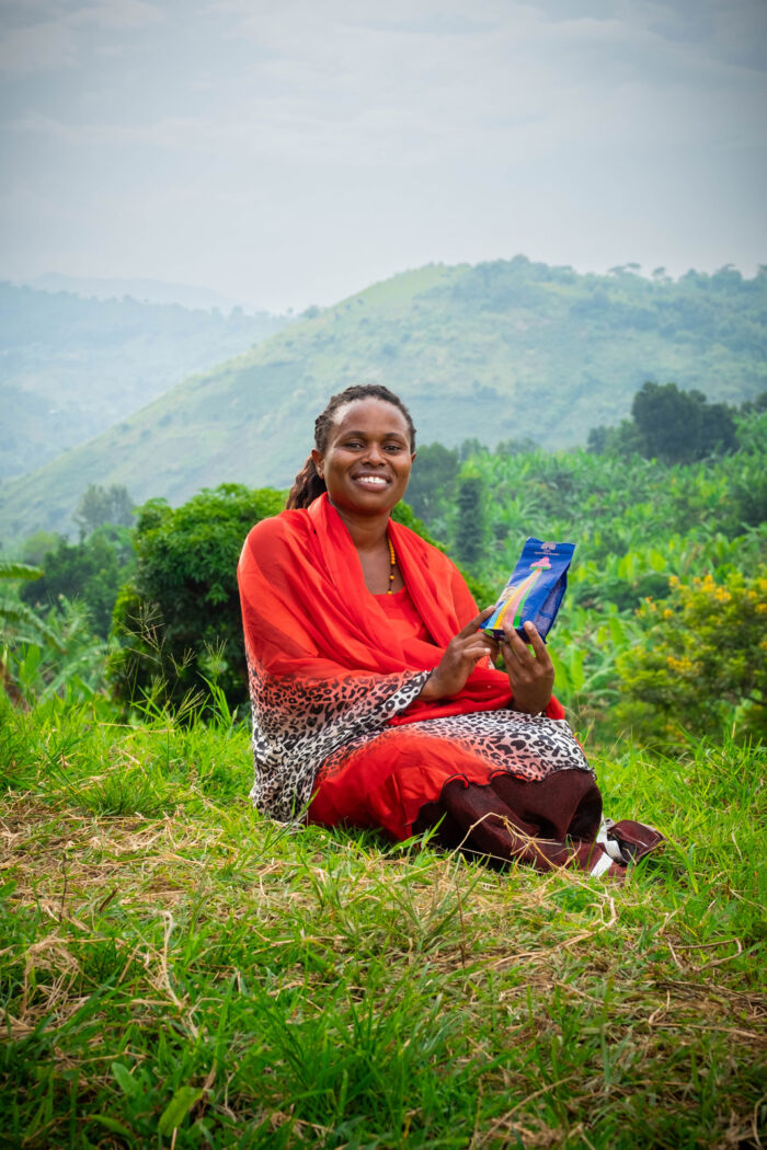
{"label": "green grass with dry straw patches on which the woman sits", "polygon": [[0,762],[1,1145],[762,1145],[764,749],[598,759],[624,887],[260,820],[223,721]]}

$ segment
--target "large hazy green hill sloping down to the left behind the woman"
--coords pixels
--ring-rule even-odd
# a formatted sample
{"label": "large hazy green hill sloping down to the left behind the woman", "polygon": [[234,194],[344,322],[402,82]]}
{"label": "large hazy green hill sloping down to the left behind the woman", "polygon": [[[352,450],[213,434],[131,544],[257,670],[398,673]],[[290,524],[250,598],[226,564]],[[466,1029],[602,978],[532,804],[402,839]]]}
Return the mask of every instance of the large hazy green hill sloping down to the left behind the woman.
{"label": "large hazy green hill sloping down to the left behind the woman", "polygon": [[[0,534],[62,528],[87,483],[179,503],[225,481],[285,486],[315,414],[350,383],[409,404],[421,443],[583,443],[645,382],[741,402],[767,388],[767,274],[580,275],[524,256],[429,266],[376,284],[0,489]],[[416,462],[417,467],[417,462]]]}

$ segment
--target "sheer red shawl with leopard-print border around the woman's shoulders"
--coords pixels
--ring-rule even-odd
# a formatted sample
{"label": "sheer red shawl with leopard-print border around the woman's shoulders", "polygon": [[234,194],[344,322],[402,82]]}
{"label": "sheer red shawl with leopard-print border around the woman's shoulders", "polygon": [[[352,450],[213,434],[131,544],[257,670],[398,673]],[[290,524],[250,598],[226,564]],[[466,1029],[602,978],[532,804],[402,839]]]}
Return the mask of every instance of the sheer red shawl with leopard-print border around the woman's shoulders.
{"label": "sheer red shawl with leopard-print border around the woman's shoulders", "polygon": [[[477,666],[457,696],[417,700],[427,673],[477,606],[446,555],[399,523],[390,521],[389,531],[434,644],[392,634],[325,494],[307,509],[262,520],[245,540],[237,574],[253,702],[253,796],[276,816],[286,816],[291,788],[293,812],[308,799],[322,760],[355,734],[511,703],[506,674],[489,665]],[[563,711],[552,698],[546,714],[561,719]]]}

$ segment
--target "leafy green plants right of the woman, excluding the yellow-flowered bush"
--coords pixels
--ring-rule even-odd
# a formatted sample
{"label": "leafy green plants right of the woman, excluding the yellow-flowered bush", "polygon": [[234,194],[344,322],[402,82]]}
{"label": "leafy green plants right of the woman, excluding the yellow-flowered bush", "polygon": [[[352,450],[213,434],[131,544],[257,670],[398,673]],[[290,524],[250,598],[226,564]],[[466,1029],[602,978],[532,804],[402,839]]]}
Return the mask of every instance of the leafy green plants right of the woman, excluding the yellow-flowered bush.
{"label": "leafy green plants right of the woman, excluding the yellow-flowered bush", "polygon": [[[767,419],[739,416],[739,436],[744,421],[741,450],[715,461],[685,466],[636,454],[481,448],[459,473],[459,484],[481,477],[486,508],[490,537],[471,568],[490,588],[481,601],[497,597],[528,535],[576,544],[550,651],[557,695],[583,733],[620,733],[618,661],[652,644],[635,618],[646,598],[666,599],[673,577],[689,582],[711,572],[722,582],[767,559]],[[434,507],[429,527],[457,552],[454,500],[436,493]],[[700,702],[707,705],[705,692]],[[670,738],[664,713],[654,715],[643,737]]]}

